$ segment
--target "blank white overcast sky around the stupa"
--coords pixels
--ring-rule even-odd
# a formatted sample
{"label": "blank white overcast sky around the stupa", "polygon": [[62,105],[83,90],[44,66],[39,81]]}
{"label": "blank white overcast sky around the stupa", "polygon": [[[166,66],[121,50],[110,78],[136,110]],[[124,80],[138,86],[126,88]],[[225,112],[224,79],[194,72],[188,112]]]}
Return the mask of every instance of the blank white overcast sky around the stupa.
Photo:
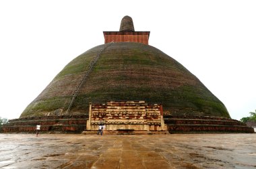
{"label": "blank white overcast sky around the stupa", "polygon": [[79,54],[133,18],[228,109],[256,109],[256,1],[0,1],[0,117],[15,119]]}

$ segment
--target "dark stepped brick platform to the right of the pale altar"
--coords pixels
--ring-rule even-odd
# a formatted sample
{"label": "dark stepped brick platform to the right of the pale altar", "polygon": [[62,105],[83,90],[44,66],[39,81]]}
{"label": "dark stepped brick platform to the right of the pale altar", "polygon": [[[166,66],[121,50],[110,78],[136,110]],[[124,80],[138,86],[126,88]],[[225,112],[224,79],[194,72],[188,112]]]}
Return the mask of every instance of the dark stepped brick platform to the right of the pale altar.
{"label": "dark stepped brick platform to the right of the pale altar", "polygon": [[164,123],[170,133],[254,133],[253,127],[223,117],[166,115]]}

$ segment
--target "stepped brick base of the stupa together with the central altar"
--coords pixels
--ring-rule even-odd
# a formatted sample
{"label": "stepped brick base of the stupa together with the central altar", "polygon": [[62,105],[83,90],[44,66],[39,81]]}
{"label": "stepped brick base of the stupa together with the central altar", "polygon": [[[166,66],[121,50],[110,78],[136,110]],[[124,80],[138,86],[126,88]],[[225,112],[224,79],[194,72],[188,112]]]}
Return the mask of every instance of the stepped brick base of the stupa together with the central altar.
{"label": "stepped brick base of the stupa together with the central altar", "polygon": [[[123,107],[123,109],[121,109]],[[122,131],[161,131],[159,125],[170,133],[254,133],[253,127],[245,123],[224,117],[165,115],[162,117],[162,106],[145,102],[108,102],[91,106],[92,119],[88,115],[58,115],[43,117],[26,117],[11,119],[3,124],[4,133],[32,133],[37,123],[41,131],[46,133],[81,133],[86,130],[95,131],[98,123],[106,123],[106,129]],[[89,121],[89,123],[88,123]],[[91,123],[91,125],[89,125]]]}

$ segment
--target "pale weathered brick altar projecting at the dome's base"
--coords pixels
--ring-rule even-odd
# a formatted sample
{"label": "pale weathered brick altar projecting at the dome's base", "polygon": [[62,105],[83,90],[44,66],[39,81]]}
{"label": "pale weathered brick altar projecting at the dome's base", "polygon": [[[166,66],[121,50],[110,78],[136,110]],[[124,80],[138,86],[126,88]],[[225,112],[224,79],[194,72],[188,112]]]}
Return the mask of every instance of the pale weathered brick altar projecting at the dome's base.
{"label": "pale weathered brick altar projecting at the dome's base", "polygon": [[99,124],[107,131],[167,131],[162,105],[145,101],[110,101],[90,104],[86,130],[96,131]]}

